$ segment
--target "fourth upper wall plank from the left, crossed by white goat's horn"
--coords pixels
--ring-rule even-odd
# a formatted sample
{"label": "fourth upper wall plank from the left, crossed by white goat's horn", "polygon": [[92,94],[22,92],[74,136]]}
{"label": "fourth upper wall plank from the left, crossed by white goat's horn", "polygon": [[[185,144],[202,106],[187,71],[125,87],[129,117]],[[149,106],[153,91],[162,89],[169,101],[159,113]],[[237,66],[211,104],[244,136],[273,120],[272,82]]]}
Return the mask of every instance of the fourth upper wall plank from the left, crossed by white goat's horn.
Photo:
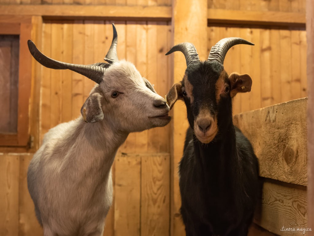
{"label": "fourth upper wall plank from the left, crossed by white goat's horn", "polygon": [[[72,62],[74,64],[84,64],[84,33],[85,28],[82,20],[74,21],[73,24],[73,54]],[[72,118],[81,115],[80,110],[83,101],[83,80],[85,77],[72,72]]]}

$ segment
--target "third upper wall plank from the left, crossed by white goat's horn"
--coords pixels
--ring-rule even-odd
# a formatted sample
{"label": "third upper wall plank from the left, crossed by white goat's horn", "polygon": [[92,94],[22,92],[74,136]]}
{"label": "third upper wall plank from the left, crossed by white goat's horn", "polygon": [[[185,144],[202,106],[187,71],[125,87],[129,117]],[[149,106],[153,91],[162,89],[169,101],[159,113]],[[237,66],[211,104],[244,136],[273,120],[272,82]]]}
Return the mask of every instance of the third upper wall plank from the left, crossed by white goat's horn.
{"label": "third upper wall plank from the left, crossed by white goat's horn", "polygon": [[[62,40],[62,61],[72,63],[73,54],[73,24],[72,22],[64,22],[63,24],[63,40]],[[61,46],[61,45],[60,45]],[[61,70],[62,73],[62,94],[61,94],[61,120],[68,122],[72,120],[72,74],[71,70]]]}

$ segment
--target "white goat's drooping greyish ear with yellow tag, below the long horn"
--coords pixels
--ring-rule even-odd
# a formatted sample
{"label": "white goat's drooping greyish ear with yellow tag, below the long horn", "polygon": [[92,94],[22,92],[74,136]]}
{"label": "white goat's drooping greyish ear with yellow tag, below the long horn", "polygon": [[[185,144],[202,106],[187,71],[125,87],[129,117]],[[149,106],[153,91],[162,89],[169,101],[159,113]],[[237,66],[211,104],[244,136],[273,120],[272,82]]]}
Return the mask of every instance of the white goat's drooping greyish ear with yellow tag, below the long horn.
{"label": "white goat's drooping greyish ear with yellow tag, below the long horn", "polygon": [[87,123],[95,123],[104,119],[104,113],[101,110],[102,96],[95,92],[89,95],[81,108],[83,120]]}

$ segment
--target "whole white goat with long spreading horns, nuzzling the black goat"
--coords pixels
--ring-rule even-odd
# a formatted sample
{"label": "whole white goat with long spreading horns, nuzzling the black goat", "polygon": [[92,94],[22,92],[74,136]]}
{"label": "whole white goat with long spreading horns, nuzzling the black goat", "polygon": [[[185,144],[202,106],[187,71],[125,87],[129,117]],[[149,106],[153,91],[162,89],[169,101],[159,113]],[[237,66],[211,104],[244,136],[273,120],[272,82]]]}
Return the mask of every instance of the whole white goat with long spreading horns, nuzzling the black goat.
{"label": "whole white goat with long spreading horns, nuzzling the black goat", "polygon": [[43,55],[29,40],[42,65],[70,69],[97,82],[82,117],[47,132],[30,162],[27,182],[45,236],[102,235],[112,203],[111,165],[130,132],[165,126],[169,106],[135,66],[116,55],[117,35],[107,63],[74,65]]}

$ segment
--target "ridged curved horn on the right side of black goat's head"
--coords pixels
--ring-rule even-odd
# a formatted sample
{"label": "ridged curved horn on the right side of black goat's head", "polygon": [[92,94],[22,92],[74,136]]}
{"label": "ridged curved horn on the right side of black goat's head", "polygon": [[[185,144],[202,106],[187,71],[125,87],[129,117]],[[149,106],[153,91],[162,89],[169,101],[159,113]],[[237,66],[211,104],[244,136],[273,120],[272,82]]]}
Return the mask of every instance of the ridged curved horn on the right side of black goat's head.
{"label": "ridged curved horn on the right side of black goat's head", "polygon": [[207,61],[218,61],[222,65],[224,64],[225,56],[228,50],[237,45],[237,44],[248,44],[248,45],[254,45],[254,43],[246,41],[243,38],[223,38],[219,42],[215,44],[215,46],[212,47],[210,50],[210,53],[208,55]]}

